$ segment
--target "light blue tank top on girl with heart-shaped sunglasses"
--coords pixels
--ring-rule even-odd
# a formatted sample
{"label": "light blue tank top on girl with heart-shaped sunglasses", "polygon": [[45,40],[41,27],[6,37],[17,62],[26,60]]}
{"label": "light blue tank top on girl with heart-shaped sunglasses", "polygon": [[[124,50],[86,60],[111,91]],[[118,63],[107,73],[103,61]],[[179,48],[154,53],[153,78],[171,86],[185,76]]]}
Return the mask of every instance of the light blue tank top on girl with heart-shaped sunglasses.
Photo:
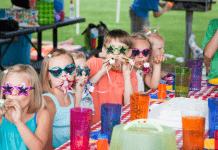
{"label": "light blue tank top on girl with heart-shaped sunglasses", "polygon": [[70,140],[70,109],[74,108],[74,101],[71,93],[68,92],[71,105],[60,107],[57,98],[51,93],[45,93],[43,96],[49,96],[55,103],[56,114],[53,120],[53,139],[52,145],[57,148]]}

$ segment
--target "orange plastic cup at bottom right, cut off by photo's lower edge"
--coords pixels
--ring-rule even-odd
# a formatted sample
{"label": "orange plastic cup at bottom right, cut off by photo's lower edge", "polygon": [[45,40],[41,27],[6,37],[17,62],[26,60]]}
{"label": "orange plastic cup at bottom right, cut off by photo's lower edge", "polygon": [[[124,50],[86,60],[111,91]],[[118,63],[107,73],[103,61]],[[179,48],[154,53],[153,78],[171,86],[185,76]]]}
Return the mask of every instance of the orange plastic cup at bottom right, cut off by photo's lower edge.
{"label": "orange plastic cup at bottom right, cut off by photo's lower edge", "polygon": [[182,117],[183,150],[203,150],[205,117]]}

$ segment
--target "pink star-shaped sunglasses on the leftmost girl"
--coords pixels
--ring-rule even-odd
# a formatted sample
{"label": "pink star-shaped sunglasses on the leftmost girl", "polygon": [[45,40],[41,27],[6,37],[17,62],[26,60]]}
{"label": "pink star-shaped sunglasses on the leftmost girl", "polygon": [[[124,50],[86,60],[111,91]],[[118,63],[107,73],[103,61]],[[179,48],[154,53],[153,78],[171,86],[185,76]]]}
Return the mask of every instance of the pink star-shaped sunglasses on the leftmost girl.
{"label": "pink star-shaped sunglasses on the leftmost girl", "polygon": [[5,94],[12,95],[12,90],[16,88],[19,91],[18,95],[25,95],[25,96],[28,95],[29,90],[34,89],[34,87],[26,86],[25,83],[22,83],[21,86],[10,86],[9,82],[6,82],[6,84],[2,85],[1,88],[3,90],[3,95]]}

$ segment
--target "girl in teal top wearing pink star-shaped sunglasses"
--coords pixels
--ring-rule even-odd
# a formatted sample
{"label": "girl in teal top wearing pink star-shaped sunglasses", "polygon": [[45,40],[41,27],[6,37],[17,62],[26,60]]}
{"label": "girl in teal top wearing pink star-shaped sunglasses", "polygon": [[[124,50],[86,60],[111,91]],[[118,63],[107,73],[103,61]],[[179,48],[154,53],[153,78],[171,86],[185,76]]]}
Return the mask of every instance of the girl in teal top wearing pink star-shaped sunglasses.
{"label": "girl in teal top wearing pink star-shaped sunglasses", "polygon": [[22,64],[4,72],[1,99],[5,99],[6,106],[0,110],[0,149],[44,149],[50,115],[45,109],[38,74]]}

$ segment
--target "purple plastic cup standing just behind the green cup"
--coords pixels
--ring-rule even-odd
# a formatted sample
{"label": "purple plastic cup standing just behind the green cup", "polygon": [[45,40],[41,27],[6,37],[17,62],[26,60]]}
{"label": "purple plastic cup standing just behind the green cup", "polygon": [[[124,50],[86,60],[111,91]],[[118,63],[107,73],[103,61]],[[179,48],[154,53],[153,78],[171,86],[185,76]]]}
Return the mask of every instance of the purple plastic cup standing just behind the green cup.
{"label": "purple plastic cup standing just behind the green cup", "polygon": [[204,58],[188,61],[188,67],[192,68],[189,91],[201,90],[202,63]]}

